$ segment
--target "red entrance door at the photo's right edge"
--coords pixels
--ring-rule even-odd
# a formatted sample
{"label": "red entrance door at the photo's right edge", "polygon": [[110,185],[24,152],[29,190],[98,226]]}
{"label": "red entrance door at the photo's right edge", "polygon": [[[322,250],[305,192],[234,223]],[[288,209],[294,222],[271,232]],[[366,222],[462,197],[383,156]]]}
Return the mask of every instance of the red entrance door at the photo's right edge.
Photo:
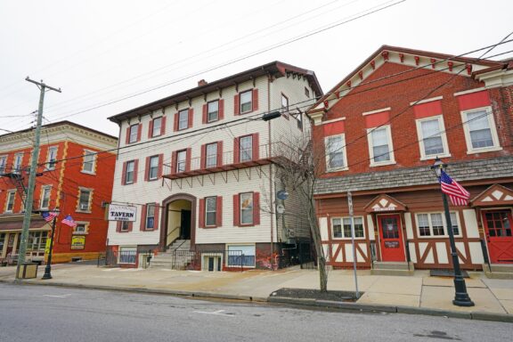
{"label": "red entrance door at the photo's right edge", "polygon": [[513,263],[513,220],[509,210],[485,211],[486,240],[493,263]]}

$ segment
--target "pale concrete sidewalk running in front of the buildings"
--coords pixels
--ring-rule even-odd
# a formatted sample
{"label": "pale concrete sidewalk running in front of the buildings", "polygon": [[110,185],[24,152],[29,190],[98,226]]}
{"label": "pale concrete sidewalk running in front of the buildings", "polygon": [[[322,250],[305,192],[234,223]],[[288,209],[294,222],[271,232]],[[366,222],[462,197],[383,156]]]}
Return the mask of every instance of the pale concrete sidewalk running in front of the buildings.
{"label": "pale concrete sidewalk running in front of the buildings", "polygon": [[[0,267],[0,281],[14,280],[15,267]],[[98,268],[95,265],[53,265],[53,279],[42,281],[44,266],[40,266],[37,279],[30,284],[90,287],[96,289],[124,289],[149,292],[191,295],[198,297],[224,297],[267,301],[273,291],[281,288],[319,289],[319,273],[297,268],[280,271],[253,270],[244,273],[201,271],[171,271],[162,269]],[[415,308],[433,310],[434,314],[458,313],[499,314],[513,322],[513,280],[487,279],[483,273],[469,273],[468,295],[476,304],[473,307],[452,305],[454,288],[452,278],[430,277],[428,271],[416,271],[410,277],[371,275],[358,271],[358,286],[362,297],[358,308],[398,307],[402,312]],[[353,271],[330,271],[328,289],[354,291]],[[273,298],[276,299],[276,298]],[[273,301],[280,301],[273,300]],[[283,300],[290,303],[290,300]],[[293,304],[312,303],[312,300]],[[347,303],[347,305],[354,305]],[[393,311],[393,310],[392,310]],[[433,313],[431,313],[433,314]],[[470,317],[469,317],[470,318]]]}

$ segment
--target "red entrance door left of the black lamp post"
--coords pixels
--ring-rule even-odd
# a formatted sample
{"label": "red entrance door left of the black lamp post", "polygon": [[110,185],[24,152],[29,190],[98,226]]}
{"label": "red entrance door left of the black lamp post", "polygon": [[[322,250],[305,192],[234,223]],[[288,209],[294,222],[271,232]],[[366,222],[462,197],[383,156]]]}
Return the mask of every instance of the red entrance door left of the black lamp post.
{"label": "red entrance door left of the black lamp post", "polygon": [[403,232],[398,215],[378,216],[381,257],[383,261],[406,261]]}

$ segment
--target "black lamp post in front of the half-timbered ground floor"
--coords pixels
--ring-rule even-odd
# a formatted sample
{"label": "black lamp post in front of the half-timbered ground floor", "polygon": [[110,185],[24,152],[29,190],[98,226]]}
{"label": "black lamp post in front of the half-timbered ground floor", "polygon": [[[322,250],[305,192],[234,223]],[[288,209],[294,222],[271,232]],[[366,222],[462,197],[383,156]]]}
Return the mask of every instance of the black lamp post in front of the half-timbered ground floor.
{"label": "black lamp post in front of the half-timbered ground floor", "polygon": [[[433,164],[431,169],[435,171],[438,182],[440,182],[440,176],[442,175],[442,170],[445,170],[445,167],[447,167],[447,164],[444,164],[442,160],[436,157],[435,164]],[[445,221],[447,222],[447,233],[449,234],[449,241],[451,242],[452,266],[454,267],[454,289],[456,294],[454,300],[452,300],[452,304],[458,306],[474,306],[474,302],[468,297],[465,279],[463,279],[461,275],[460,259],[458,258],[456,243],[454,243],[449,203],[447,202],[447,195],[445,195],[444,192],[442,192],[442,199],[444,200]]]}

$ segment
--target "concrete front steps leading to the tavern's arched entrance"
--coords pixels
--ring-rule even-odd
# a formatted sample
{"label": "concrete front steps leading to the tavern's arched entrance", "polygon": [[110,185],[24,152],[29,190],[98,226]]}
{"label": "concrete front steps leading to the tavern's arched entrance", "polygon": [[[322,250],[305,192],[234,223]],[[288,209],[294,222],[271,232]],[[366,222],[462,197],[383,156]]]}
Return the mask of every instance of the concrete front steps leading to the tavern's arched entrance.
{"label": "concrete front steps leading to the tavern's arched entrance", "polygon": [[183,270],[192,260],[191,240],[175,240],[166,252],[153,256],[150,268]]}

